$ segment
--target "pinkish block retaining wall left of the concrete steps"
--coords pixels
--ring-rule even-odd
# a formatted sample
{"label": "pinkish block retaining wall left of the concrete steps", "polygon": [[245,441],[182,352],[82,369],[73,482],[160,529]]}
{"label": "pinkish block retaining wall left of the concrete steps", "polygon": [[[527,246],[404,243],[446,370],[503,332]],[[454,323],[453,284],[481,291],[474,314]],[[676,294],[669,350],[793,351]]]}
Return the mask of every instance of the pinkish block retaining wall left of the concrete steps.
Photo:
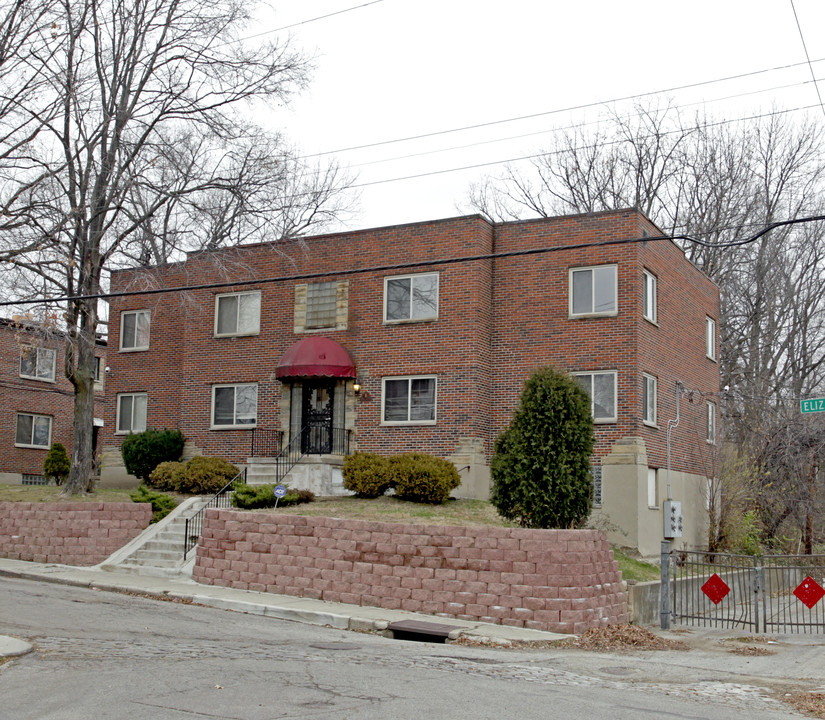
{"label": "pinkish block retaining wall left of the concrete steps", "polygon": [[96,565],[151,519],[148,503],[0,503],[0,556]]}

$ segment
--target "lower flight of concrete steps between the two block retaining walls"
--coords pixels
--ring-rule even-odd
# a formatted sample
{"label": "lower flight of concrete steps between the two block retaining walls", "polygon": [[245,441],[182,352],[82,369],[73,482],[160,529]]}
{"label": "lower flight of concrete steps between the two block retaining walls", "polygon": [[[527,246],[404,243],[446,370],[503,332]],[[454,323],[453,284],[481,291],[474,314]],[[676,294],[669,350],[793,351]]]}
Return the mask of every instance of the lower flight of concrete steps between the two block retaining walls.
{"label": "lower flight of concrete steps between the two block retaining walls", "polygon": [[159,523],[150,525],[132,542],[106,558],[100,569],[154,577],[191,577],[194,548],[186,562],[183,560],[186,519],[195,515],[210,499],[188,498]]}

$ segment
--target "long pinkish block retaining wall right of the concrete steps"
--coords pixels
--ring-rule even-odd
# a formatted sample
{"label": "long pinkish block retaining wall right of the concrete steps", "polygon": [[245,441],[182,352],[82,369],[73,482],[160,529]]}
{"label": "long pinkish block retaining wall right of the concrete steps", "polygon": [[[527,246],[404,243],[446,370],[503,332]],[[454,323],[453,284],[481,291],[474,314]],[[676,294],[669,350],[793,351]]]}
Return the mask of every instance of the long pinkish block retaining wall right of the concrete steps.
{"label": "long pinkish block retaining wall right of the concrete steps", "polygon": [[553,632],[626,622],[596,530],[424,526],[208,510],[197,582]]}

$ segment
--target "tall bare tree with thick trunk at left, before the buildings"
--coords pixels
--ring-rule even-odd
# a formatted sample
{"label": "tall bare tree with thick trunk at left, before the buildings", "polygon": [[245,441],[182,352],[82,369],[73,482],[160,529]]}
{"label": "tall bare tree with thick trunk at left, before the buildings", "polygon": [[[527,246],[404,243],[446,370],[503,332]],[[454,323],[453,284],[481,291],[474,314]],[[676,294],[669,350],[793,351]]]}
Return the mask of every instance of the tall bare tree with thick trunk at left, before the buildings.
{"label": "tall bare tree with thick trunk at left, before the buildings", "polygon": [[[266,197],[295,195],[296,180],[288,169],[272,171],[287,154],[245,117],[288,100],[309,65],[288,43],[243,41],[250,3],[33,0],[8,8],[17,6],[36,18],[35,30],[9,56],[36,91],[15,95],[4,73],[9,114],[22,120],[16,134],[0,136],[0,205],[16,219],[0,226],[0,257],[18,273],[9,286],[76,298],[62,308],[75,389],[66,491],[76,493],[92,467],[93,297],[107,268],[165,261],[187,243],[305,229],[334,206],[340,177],[321,176],[305,206],[293,197],[288,221],[260,211]],[[31,125],[21,124],[26,118]],[[26,135],[30,126],[37,132]],[[294,170],[295,162],[286,164]],[[300,207],[309,210],[302,216]]]}

